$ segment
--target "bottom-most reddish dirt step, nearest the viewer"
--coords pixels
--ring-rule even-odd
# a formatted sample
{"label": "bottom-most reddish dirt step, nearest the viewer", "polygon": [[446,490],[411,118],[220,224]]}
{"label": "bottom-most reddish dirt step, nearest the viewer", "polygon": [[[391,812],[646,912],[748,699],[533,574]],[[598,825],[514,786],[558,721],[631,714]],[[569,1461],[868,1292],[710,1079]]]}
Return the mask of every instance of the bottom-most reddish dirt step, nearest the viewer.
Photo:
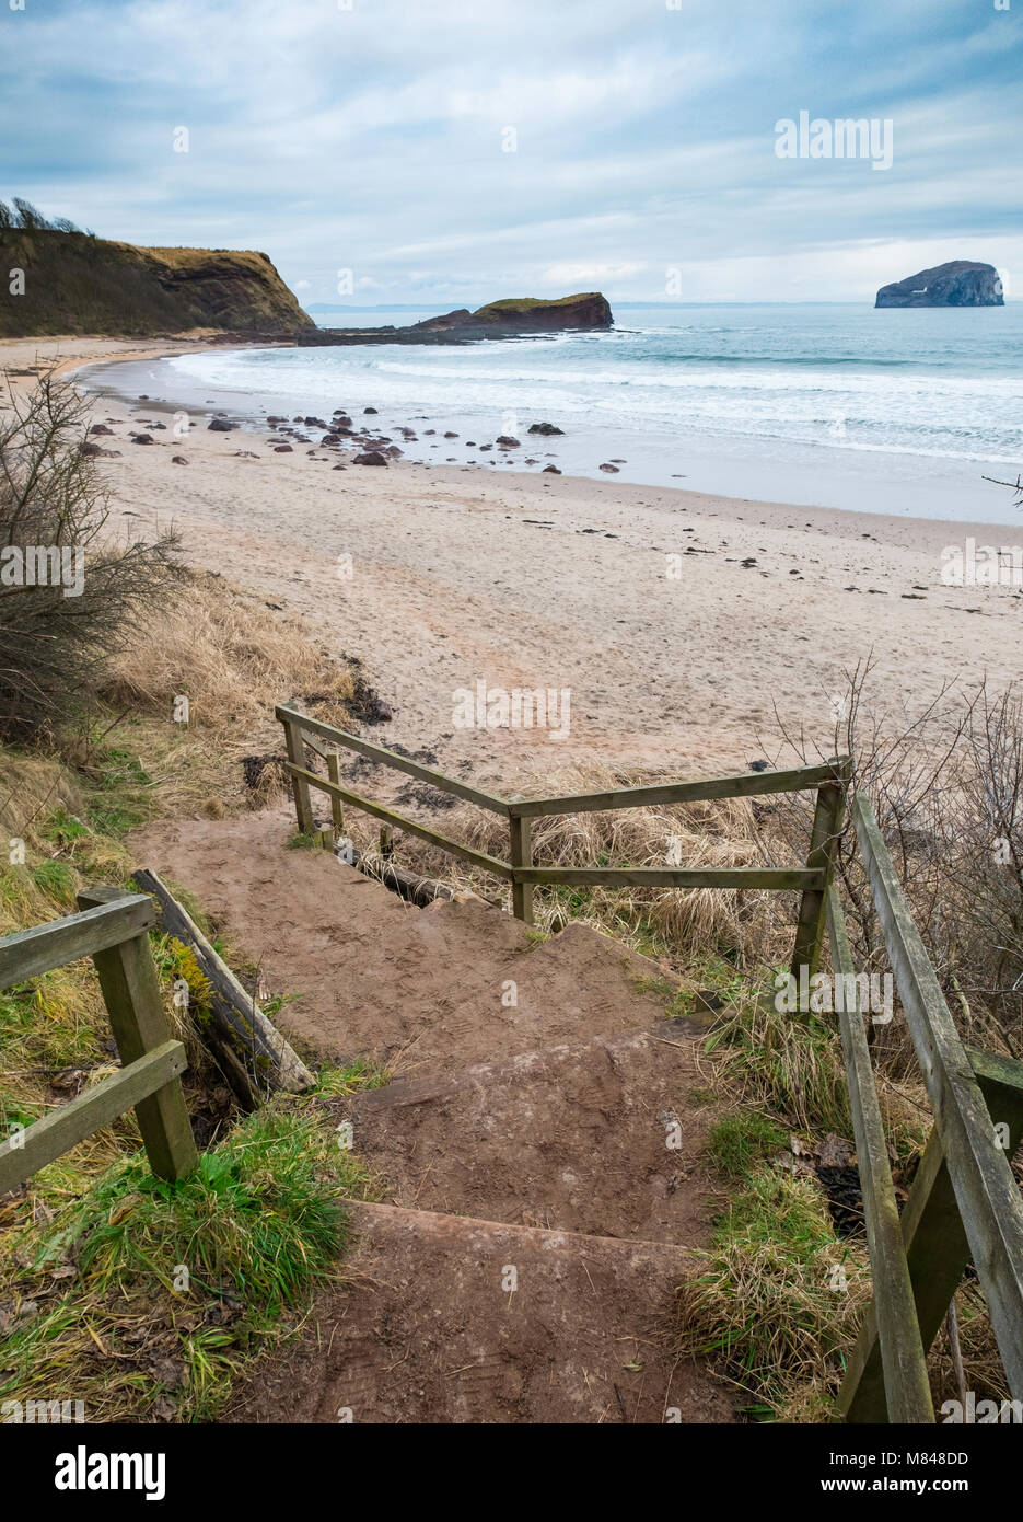
{"label": "bottom-most reddish dirt step, nearest the viewer", "polygon": [[683,1248],[392,1205],[351,1219],[351,1283],[228,1420],[734,1420],[728,1388],[664,1350]]}

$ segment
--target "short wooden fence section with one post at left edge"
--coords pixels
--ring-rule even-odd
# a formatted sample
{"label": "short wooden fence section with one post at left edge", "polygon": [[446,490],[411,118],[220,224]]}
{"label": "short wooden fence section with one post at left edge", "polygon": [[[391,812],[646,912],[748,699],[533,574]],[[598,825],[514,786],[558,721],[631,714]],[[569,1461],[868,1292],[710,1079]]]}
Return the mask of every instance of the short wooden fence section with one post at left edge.
{"label": "short wooden fence section with one post at left edge", "polygon": [[167,1029],[147,930],[157,912],[144,893],[94,889],[79,895],[81,913],[0,941],[0,989],[91,956],[117,1052],[125,1064],[53,1114],[0,1142],[0,1195],[134,1110],[149,1166],[178,1180],[198,1163],[181,1088],[188,1065]]}

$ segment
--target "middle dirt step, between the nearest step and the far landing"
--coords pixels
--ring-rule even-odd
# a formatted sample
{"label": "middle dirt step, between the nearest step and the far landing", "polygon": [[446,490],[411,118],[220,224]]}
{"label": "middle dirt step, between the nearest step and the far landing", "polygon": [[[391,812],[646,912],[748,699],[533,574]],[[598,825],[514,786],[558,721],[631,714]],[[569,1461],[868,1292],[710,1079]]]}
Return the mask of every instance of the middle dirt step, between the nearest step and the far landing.
{"label": "middle dirt step, between the nearest step and the far landing", "polygon": [[347,1108],[397,1205],[696,1243],[714,1198],[699,1082],[695,1047],[664,1026],[398,1078]]}

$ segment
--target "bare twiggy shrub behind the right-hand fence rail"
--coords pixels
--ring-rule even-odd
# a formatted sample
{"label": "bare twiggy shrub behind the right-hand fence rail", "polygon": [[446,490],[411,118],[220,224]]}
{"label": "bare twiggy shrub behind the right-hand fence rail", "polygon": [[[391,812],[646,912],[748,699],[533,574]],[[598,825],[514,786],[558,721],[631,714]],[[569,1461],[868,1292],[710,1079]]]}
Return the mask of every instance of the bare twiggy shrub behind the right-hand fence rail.
{"label": "bare twiggy shrub behind the right-hand fence rail", "polygon": [[[914,715],[869,706],[871,661],[847,673],[831,753],[851,753],[914,919],[962,1035],[1023,1053],[1023,702],[987,686],[944,683]],[[780,724],[806,763],[819,747]],[[812,796],[781,799],[774,828],[806,839]],[[857,965],[888,966],[866,871],[851,823],[838,848],[838,881]],[[889,1071],[912,1061],[904,1024],[882,1033]]]}

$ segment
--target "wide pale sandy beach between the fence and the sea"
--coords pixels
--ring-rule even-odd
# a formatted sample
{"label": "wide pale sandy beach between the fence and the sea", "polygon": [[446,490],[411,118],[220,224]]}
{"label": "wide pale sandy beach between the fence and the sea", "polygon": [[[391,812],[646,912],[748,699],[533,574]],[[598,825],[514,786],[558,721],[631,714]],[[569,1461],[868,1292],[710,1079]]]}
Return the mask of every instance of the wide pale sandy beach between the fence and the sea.
{"label": "wide pale sandy beach between the fence and the sea", "polygon": [[[71,371],[184,347],[71,338],[0,353],[8,368],[40,359]],[[313,444],[274,454],[268,429],[217,434],[205,417],[187,440],[154,431],[146,447],[129,431],[169,423],[166,412],[100,397],[94,417],[116,435],[99,441],[122,451],[100,461],[116,519],[141,531],[173,522],[188,562],[302,615],[333,654],[360,656],[394,709],[377,738],[427,747],[477,782],[594,761],[745,770],[790,758],[778,718],[830,753],[831,697],[868,654],[871,703],[892,712],[918,711],[950,680],[987,676],[1000,689],[1021,668],[1023,592],[944,586],[941,551],[967,536],[1006,545],[1023,525],[476,466],[354,466]],[[407,422],[374,419],[398,443]],[[339,557],[351,557],[350,577]],[[477,682],[567,691],[569,732],[459,728],[459,689]]]}

